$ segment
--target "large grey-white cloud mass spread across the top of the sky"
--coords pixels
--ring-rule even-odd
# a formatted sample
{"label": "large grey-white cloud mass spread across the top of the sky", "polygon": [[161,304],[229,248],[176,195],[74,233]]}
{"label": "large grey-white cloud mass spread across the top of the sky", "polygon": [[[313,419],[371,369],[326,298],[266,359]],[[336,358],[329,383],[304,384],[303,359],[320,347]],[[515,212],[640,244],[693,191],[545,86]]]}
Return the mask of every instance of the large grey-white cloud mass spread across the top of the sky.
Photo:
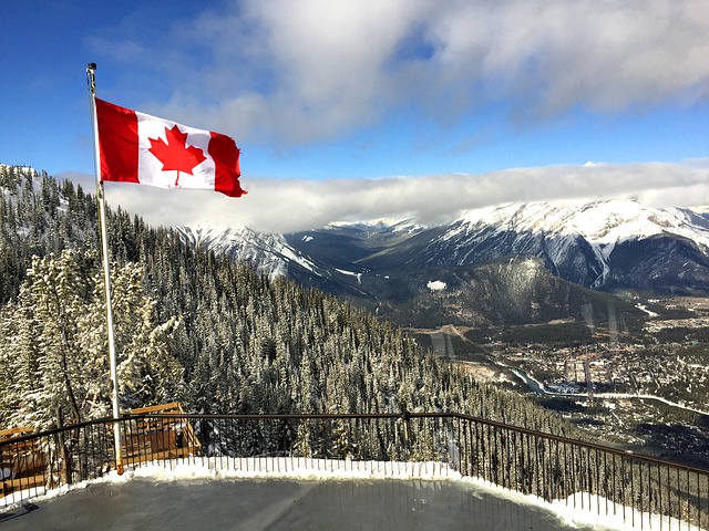
{"label": "large grey-white cloud mass spread across the top of the sky", "polygon": [[179,87],[142,110],[242,142],[328,139],[404,105],[450,121],[511,98],[515,116],[536,119],[574,106],[615,112],[708,96],[705,0],[229,6],[152,40],[91,42],[134,71],[147,65],[150,84]]}

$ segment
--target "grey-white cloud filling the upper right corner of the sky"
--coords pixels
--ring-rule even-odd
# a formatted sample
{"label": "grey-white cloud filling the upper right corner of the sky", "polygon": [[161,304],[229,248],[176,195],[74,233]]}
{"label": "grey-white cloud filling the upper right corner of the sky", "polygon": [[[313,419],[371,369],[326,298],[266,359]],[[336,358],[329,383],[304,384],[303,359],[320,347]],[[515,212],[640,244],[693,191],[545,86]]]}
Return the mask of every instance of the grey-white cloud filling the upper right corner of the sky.
{"label": "grey-white cloud filling the upper right corner of the sky", "polygon": [[[449,4],[451,6],[451,4]],[[456,2],[429,24],[449,83],[547,113],[616,111],[706,86],[709,11],[693,0]]]}

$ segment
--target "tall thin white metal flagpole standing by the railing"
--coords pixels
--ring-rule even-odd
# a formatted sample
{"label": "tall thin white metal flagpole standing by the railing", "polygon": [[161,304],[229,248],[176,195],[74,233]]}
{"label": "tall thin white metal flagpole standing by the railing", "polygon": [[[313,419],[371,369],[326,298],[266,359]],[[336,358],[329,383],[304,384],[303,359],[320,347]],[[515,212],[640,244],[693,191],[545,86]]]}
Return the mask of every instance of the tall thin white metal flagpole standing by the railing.
{"label": "tall thin white metal flagpole standing by the railing", "polygon": [[119,407],[119,373],[115,362],[115,342],[113,335],[113,306],[111,304],[111,267],[109,263],[109,243],[106,237],[106,205],[101,180],[101,156],[99,148],[99,121],[96,119],[96,63],[86,66],[86,82],[89,83],[91,101],[91,119],[93,122],[93,160],[96,174],[96,197],[99,198],[99,215],[101,225],[101,257],[103,262],[103,285],[106,299],[106,329],[109,332],[109,362],[111,365],[111,381],[113,383],[113,444],[115,448],[115,468],[119,476],[123,475],[123,456],[121,455],[121,409]]}

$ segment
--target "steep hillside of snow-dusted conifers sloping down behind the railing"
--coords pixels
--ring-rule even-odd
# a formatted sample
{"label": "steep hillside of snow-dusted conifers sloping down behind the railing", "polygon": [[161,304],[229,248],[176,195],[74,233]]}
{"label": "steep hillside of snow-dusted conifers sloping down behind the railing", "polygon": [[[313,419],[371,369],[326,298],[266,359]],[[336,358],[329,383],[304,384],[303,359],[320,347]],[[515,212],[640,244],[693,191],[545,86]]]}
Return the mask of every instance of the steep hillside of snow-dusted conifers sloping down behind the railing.
{"label": "steep hillside of snow-dusted conifers sloping down behind the railing", "polygon": [[[94,198],[0,166],[0,427],[109,414]],[[196,413],[453,410],[573,428],[477,384],[364,310],[189,247],[111,212],[123,407]],[[32,258],[32,257],[35,258]]]}

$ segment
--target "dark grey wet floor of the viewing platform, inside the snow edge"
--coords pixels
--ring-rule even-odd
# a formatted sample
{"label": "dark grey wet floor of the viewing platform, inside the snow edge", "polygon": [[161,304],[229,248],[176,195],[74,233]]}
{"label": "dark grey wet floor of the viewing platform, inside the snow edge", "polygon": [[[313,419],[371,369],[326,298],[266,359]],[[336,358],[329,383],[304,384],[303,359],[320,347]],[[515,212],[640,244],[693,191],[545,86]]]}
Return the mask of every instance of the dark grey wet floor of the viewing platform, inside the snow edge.
{"label": "dark grey wet floor of the viewing platform, inside the snow edge", "polygon": [[[592,514],[449,479],[133,477],[88,483],[0,512],[20,530],[602,530]],[[573,520],[576,520],[575,518]]]}

